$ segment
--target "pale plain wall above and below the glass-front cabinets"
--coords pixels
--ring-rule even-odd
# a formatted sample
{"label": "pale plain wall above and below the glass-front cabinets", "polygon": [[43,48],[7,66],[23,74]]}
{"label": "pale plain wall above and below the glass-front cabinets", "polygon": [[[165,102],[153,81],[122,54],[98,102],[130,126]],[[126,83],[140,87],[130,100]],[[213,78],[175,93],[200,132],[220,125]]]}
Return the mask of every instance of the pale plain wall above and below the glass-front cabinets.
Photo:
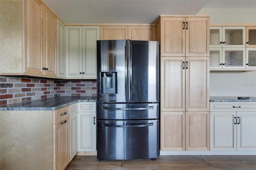
{"label": "pale plain wall above and below the glass-front cabinets", "polygon": [[[210,23],[256,23],[256,9],[202,8]],[[210,71],[210,96],[256,97],[256,71]]]}

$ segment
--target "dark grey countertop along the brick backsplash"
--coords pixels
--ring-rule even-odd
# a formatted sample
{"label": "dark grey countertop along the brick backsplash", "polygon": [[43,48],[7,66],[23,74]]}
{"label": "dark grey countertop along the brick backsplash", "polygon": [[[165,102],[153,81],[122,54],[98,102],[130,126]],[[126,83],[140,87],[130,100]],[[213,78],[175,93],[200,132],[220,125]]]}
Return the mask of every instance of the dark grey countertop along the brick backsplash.
{"label": "dark grey countertop along the brick backsplash", "polygon": [[0,106],[0,110],[57,110],[76,102],[96,102],[97,97],[52,97]]}

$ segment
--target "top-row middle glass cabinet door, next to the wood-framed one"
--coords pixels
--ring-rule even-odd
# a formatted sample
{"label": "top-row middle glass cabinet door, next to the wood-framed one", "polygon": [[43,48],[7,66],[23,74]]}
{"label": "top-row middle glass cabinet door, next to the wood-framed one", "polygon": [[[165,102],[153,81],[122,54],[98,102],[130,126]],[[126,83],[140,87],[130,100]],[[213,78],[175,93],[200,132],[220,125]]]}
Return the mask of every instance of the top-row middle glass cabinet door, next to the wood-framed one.
{"label": "top-row middle glass cabinet door, next to the wood-framed one", "polygon": [[223,48],[245,47],[245,26],[223,26],[222,27]]}

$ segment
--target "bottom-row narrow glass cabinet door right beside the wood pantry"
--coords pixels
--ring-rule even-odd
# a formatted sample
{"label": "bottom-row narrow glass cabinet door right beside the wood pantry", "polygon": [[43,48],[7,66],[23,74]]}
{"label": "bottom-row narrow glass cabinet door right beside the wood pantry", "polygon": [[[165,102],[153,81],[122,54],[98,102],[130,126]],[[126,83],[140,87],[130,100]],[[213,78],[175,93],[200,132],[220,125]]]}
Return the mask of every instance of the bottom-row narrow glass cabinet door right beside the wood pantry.
{"label": "bottom-row narrow glass cabinet door right beside the wood pantry", "polygon": [[222,48],[210,48],[210,70],[222,69]]}

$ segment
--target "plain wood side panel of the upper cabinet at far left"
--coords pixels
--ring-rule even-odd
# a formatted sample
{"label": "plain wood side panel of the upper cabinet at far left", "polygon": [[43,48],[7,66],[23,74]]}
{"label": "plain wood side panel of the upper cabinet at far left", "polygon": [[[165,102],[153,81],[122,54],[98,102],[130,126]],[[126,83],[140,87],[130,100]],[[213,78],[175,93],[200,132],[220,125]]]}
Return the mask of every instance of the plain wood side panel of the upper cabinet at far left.
{"label": "plain wood side panel of the upper cabinet at far left", "polygon": [[0,16],[0,72],[21,73],[23,72],[22,2],[1,0]]}

